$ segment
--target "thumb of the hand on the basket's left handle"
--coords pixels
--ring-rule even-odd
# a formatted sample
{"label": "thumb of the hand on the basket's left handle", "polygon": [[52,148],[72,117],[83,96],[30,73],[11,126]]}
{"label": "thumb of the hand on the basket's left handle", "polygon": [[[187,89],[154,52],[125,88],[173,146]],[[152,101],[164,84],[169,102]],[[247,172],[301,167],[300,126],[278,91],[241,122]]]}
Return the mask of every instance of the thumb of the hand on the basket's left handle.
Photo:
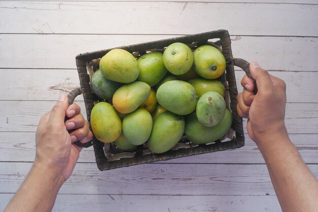
{"label": "thumb of the hand on the basket's left handle", "polygon": [[64,122],[66,110],[68,109],[68,107],[69,107],[69,102],[68,102],[67,96],[60,95],[57,103],[52,108],[49,120],[53,122],[56,121],[57,123],[60,121]]}

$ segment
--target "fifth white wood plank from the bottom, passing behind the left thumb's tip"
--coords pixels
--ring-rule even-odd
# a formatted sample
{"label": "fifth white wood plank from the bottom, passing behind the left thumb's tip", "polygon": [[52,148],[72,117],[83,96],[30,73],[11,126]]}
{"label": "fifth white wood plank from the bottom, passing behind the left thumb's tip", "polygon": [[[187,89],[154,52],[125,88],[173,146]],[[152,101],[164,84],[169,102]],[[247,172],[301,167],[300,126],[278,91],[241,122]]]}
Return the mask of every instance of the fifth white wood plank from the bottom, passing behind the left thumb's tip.
{"label": "fifth white wood plank from the bottom, passing behind the left thumb's tip", "polygon": [[[288,102],[318,102],[318,72],[276,72],[270,73],[287,84]],[[1,100],[56,100],[60,94],[67,94],[80,87],[76,69],[0,69],[0,84],[8,88],[0,93]],[[245,73],[236,72],[239,92]],[[84,100],[80,95],[76,100]],[[84,108],[83,108],[84,109]]]}

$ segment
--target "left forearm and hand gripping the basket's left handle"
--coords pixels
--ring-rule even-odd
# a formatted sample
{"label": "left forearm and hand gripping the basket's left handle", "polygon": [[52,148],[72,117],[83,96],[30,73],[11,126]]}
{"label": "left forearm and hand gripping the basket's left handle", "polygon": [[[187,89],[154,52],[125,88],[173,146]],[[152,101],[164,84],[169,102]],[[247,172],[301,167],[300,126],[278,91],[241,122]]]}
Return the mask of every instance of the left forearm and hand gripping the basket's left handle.
{"label": "left forearm and hand gripping the basket's left handle", "polygon": [[[71,119],[64,122],[66,115]],[[76,130],[69,134],[67,129]],[[39,122],[35,161],[5,211],[51,211],[82,149],[72,143],[76,140],[86,143],[91,138],[88,122],[78,105],[69,106],[66,96],[60,96],[52,111]]]}

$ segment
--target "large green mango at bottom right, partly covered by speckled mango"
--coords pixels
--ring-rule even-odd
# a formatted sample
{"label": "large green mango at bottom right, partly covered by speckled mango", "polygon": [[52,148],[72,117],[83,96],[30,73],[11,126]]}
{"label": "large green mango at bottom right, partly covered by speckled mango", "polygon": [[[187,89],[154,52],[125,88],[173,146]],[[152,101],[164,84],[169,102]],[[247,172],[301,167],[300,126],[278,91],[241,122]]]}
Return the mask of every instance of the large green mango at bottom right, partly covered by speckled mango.
{"label": "large green mango at bottom right, partly covered by speckled mango", "polygon": [[225,116],[220,123],[214,127],[201,124],[195,112],[185,118],[184,133],[190,142],[194,144],[207,144],[223,137],[231,128],[232,114],[226,109]]}

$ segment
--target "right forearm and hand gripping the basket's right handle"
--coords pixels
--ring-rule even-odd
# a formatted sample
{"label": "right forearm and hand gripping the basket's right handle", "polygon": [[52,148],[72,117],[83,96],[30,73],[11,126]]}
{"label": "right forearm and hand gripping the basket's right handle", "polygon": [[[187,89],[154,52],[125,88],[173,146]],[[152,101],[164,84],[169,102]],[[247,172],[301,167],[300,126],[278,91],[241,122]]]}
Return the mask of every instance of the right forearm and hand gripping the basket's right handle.
{"label": "right forearm and hand gripping the basket's right handle", "polygon": [[247,77],[241,81],[238,114],[247,120],[247,132],[255,141],[266,162],[273,187],[283,211],[316,211],[318,181],[307,168],[291,142],[284,124],[285,83],[259,67],[250,64],[258,93]]}

